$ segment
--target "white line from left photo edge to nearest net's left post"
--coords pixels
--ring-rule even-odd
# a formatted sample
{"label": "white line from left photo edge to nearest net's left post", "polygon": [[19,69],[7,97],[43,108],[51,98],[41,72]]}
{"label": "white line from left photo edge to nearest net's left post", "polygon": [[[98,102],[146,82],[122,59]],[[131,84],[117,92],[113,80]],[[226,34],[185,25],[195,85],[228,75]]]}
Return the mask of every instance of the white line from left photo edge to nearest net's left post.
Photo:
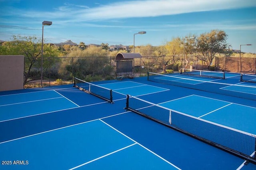
{"label": "white line from left photo edge to nearest net's left post", "polygon": [[125,113],[128,113],[128,112],[131,112],[131,111],[125,111],[125,112],[118,113],[118,114],[115,114],[115,115],[109,115],[109,116],[101,117],[101,118],[98,118],[98,119],[93,119],[93,120],[89,120],[89,121],[85,121],[85,122],[81,122],[81,123],[76,123],[76,124],[74,124],[74,125],[68,125],[68,126],[64,126],[64,127],[59,127],[59,128],[57,128],[57,129],[51,129],[51,130],[48,130],[48,131],[43,131],[43,132],[40,132],[40,133],[36,133],[36,134],[24,136],[24,137],[19,137],[19,138],[16,138],[16,139],[11,139],[11,140],[9,140],[9,141],[0,142],[0,145],[1,145],[2,143],[7,143],[7,142],[11,142],[11,141],[16,141],[16,140],[23,139],[23,138],[26,138],[26,137],[32,137],[32,136],[35,136],[35,135],[40,135],[40,134],[43,134],[43,133],[48,133],[48,132],[51,132],[51,131],[56,131],[56,130],[59,130],[59,129],[64,129],[64,128],[68,128],[68,127],[72,127],[72,126],[76,126],[76,125],[81,125],[81,124],[84,124],[84,123],[89,123],[89,122],[92,122],[92,121],[97,121],[97,120],[100,120],[100,119],[105,119],[105,118],[108,118],[108,117],[112,117],[112,116],[117,116],[117,115],[125,114]]}

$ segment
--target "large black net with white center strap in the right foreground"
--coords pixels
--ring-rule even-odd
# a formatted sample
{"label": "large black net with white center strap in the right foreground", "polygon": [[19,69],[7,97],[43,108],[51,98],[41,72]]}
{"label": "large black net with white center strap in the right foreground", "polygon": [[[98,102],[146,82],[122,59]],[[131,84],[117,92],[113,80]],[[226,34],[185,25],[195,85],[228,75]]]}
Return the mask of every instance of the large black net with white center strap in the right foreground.
{"label": "large black net with white center strap in the right foreground", "polygon": [[127,95],[126,109],[256,164],[256,135]]}

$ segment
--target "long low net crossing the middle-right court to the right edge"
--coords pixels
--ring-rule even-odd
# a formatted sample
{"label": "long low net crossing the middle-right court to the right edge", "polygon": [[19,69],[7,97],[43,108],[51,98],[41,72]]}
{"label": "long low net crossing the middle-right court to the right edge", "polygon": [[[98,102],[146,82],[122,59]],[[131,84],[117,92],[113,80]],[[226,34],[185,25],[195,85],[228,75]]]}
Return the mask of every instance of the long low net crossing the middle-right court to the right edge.
{"label": "long low net crossing the middle-right court to the right edge", "polygon": [[171,76],[148,72],[148,80],[205,92],[256,100],[256,86],[241,84],[239,78],[236,80],[238,84],[230,84],[226,83],[227,79],[208,80],[207,78],[194,78],[183,74],[172,74]]}

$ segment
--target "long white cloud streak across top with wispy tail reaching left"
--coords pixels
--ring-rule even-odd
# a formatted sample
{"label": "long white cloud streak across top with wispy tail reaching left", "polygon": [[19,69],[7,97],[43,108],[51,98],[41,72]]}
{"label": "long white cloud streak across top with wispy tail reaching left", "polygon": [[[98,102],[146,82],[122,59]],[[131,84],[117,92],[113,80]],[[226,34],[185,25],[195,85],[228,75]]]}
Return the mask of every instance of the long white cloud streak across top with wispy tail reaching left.
{"label": "long white cloud streak across top with wispy tail reaching left", "polygon": [[80,21],[165,16],[255,6],[255,0],[133,0],[109,3],[108,5],[100,5],[94,8],[77,4],[64,4],[64,6],[55,7],[53,12],[20,12],[19,10],[12,10],[10,15],[30,18],[51,16],[52,19],[62,19],[62,21],[74,23]]}

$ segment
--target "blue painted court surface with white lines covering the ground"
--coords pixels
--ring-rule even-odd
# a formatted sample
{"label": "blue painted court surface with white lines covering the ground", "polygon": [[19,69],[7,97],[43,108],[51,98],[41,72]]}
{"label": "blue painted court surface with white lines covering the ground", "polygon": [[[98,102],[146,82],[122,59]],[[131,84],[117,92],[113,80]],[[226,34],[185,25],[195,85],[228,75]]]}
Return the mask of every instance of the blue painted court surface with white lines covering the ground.
{"label": "blue painted court surface with white lines covering the ground", "polygon": [[[160,118],[167,123],[170,110],[173,123],[188,131],[201,128],[213,141],[221,139],[228,145],[235,136],[227,134],[222,139],[225,135],[216,129],[204,129],[195,122],[234,130],[234,135],[242,134],[241,139],[234,139],[241,144],[234,148],[240,150],[247,145],[244,135],[256,137],[254,83],[239,82],[238,74],[226,74],[224,80],[179,74],[154,78],[202,89],[208,86],[206,82],[217,82],[210,86],[213,92],[232,94],[152,82],[146,77],[95,82],[113,90],[114,104],[72,85],[0,92],[0,169],[256,170],[256,164],[240,156],[124,109],[129,94],[156,105],[137,102],[136,109],[152,115],[167,109]],[[219,82],[228,85],[220,87]],[[184,120],[175,119],[179,113]],[[196,121],[183,123],[186,117]],[[255,154],[255,143],[252,140],[246,152]]]}

